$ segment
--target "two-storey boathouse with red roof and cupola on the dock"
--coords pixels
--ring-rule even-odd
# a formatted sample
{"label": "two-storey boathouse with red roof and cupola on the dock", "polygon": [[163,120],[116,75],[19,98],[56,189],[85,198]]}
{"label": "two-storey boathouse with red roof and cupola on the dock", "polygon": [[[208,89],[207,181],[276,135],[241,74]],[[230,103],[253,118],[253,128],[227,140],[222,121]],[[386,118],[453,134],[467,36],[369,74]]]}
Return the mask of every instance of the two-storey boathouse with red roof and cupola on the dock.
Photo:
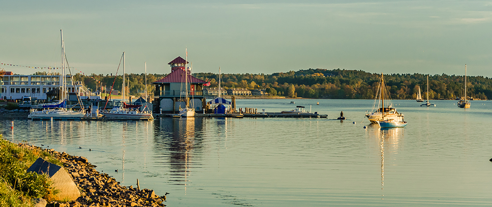
{"label": "two-storey boathouse with red roof and cupola on the dock", "polygon": [[[169,64],[171,73],[166,77],[152,83],[155,86],[154,109],[155,114],[177,113],[185,107],[185,92],[188,93],[190,107],[196,113],[203,113],[203,105],[206,103],[203,96],[203,80],[191,75],[191,71],[185,69],[186,60],[181,57],[173,59]],[[184,88],[184,77],[187,77],[188,86]]]}

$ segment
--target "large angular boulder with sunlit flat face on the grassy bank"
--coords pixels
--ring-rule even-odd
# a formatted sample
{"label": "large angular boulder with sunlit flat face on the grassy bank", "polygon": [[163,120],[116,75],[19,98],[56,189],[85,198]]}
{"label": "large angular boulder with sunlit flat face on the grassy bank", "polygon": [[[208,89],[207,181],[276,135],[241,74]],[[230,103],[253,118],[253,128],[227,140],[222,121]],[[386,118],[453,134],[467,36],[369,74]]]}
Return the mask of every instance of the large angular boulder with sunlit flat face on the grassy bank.
{"label": "large angular boulder with sunlit flat face on the grassy bank", "polygon": [[43,158],[39,157],[28,169],[28,172],[35,172],[39,175],[48,175],[48,177],[53,180],[53,187],[60,190],[60,193],[58,193],[56,197],[59,201],[66,198],[74,201],[80,196],[77,185],[75,185],[72,178],[61,166],[45,161]]}

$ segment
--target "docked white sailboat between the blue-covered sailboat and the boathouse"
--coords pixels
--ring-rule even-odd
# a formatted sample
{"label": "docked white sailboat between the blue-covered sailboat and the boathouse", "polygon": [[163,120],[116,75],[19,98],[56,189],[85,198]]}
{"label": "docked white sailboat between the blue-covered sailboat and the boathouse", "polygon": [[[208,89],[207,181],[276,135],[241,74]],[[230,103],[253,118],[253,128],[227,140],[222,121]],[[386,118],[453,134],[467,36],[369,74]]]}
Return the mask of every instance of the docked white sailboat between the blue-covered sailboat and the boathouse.
{"label": "docked white sailboat between the blue-covered sailboat and the boathouse", "polygon": [[110,111],[103,111],[102,114],[109,118],[121,118],[121,119],[154,119],[152,113],[148,111],[140,112],[138,110],[142,105],[126,104],[125,100],[125,81],[124,81],[124,54],[123,52],[123,89],[122,89],[122,105],[114,106]]}

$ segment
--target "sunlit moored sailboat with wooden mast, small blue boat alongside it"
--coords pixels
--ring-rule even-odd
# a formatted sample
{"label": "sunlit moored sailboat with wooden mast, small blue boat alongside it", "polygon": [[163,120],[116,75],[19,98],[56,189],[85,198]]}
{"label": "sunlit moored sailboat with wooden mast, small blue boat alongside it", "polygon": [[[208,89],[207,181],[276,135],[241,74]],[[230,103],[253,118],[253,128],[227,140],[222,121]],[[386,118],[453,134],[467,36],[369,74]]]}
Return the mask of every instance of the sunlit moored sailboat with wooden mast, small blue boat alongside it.
{"label": "sunlit moored sailboat with wooden mast, small blue boat alongside it", "polygon": [[[404,127],[407,122],[403,119],[403,114],[399,114],[395,108],[390,104],[388,107],[384,105],[384,93],[386,89],[386,84],[384,83],[383,73],[381,73],[381,82],[379,85],[379,91],[374,99],[374,105],[372,106],[371,112],[366,111],[366,117],[369,121],[374,124],[378,124],[381,128],[392,128],[392,127]],[[389,97],[389,94],[388,94]],[[374,111],[374,107],[378,103],[377,110]],[[381,104],[381,107],[379,107]]]}

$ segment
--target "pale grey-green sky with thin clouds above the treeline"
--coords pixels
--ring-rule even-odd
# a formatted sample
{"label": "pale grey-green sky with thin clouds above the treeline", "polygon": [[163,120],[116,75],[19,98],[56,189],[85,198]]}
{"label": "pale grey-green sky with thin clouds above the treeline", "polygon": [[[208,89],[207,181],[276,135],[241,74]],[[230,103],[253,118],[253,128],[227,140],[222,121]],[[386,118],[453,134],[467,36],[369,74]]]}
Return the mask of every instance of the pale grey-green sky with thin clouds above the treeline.
{"label": "pale grey-green sky with thin clouds above the treeline", "polygon": [[[492,1],[2,1],[0,62],[84,74],[346,69],[492,77]],[[0,65],[32,74],[45,69]],[[121,74],[121,72],[119,72]]]}

